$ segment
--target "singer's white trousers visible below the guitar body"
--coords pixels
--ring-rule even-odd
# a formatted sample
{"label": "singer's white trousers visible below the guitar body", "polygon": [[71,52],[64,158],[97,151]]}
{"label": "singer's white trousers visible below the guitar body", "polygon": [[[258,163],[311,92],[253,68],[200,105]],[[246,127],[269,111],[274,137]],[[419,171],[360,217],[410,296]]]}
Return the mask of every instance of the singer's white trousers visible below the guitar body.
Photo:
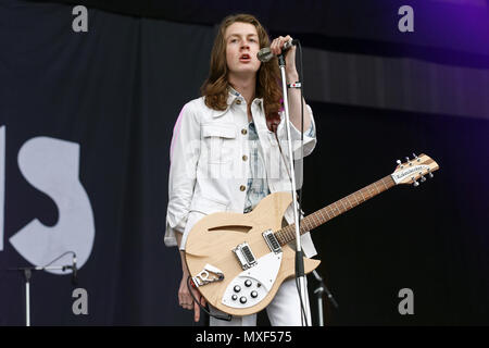
{"label": "singer's white trousers visible below the guitar body", "polygon": [[[308,324],[311,325],[311,308],[308,294],[305,294],[303,303],[308,315]],[[212,314],[224,314],[212,306],[210,308]],[[301,303],[294,278],[285,281],[280,285],[275,298],[266,307],[266,313],[272,326],[302,326]],[[211,316],[210,326],[256,326],[256,314],[233,316],[230,322]]]}

